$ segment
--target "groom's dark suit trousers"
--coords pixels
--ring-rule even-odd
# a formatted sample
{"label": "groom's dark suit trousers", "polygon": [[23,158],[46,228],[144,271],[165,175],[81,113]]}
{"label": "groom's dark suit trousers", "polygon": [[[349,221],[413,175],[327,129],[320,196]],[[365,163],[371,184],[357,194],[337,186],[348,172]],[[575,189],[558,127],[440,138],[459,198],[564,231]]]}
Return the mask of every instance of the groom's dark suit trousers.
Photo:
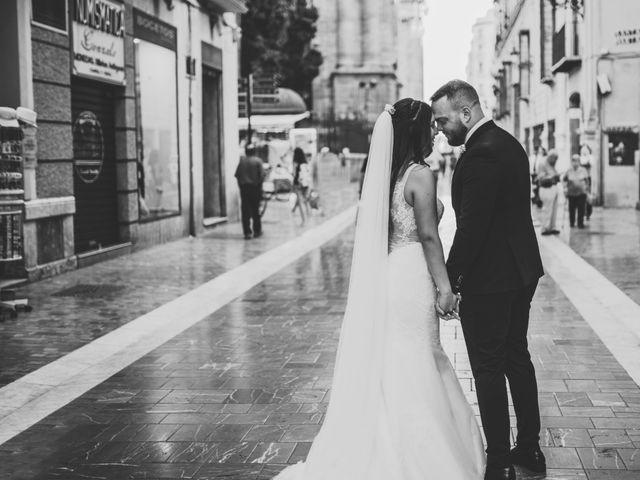
{"label": "groom's dark suit trousers", "polygon": [[529,310],[538,282],[495,294],[462,295],[460,317],[476,384],[487,465],[506,467],[510,425],[506,379],[517,418],[517,443],[535,447],[540,440],[538,386],[527,342]]}

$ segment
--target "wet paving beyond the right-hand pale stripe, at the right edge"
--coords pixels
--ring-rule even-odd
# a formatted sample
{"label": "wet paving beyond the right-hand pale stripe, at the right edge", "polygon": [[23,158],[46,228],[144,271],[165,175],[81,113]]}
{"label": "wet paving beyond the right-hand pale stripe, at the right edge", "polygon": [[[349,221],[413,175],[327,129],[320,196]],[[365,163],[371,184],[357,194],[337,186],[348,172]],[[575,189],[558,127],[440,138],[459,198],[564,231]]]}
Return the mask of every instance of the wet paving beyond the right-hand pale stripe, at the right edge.
{"label": "wet paving beyond the right-hand pale stripe, at the right edge", "polygon": [[595,208],[586,229],[571,229],[568,243],[640,304],[640,211]]}

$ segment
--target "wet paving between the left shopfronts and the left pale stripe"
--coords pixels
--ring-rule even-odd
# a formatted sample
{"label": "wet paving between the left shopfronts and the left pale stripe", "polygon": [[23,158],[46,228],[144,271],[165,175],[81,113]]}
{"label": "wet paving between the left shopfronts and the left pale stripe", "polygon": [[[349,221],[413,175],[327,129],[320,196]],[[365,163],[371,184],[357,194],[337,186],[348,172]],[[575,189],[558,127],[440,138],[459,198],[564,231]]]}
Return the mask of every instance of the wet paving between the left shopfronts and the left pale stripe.
{"label": "wet paving between the left shopfronts and the left pale stripe", "polygon": [[[320,168],[327,216],[354,204],[357,183],[337,159]],[[245,241],[238,223],[29,284],[33,311],[0,322],[0,387],[189,292],[325,220],[305,226],[286,202],[272,201],[265,235]]]}

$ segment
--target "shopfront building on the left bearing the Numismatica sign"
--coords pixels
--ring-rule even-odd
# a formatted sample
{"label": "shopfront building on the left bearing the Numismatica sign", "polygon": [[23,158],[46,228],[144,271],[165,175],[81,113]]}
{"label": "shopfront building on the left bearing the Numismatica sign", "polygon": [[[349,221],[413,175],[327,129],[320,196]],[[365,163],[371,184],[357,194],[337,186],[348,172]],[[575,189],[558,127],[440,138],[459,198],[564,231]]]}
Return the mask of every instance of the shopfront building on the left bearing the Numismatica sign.
{"label": "shopfront building on the left bearing the Numismatica sign", "polygon": [[11,68],[0,105],[38,115],[18,274],[42,278],[237,217],[244,11],[240,0],[2,2],[0,61]]}

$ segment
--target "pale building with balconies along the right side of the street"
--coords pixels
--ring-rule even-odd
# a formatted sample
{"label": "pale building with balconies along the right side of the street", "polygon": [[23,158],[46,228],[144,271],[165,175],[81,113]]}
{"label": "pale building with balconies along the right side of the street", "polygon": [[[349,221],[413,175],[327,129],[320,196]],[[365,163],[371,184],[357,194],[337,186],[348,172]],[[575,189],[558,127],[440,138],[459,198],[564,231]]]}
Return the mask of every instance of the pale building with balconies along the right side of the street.
{"label": "pale building with balconies along the right side of the street", "polygon": [[496,118],[530,153],[580,154],[596,200],[639,201],[640,2],[500,0]]}

